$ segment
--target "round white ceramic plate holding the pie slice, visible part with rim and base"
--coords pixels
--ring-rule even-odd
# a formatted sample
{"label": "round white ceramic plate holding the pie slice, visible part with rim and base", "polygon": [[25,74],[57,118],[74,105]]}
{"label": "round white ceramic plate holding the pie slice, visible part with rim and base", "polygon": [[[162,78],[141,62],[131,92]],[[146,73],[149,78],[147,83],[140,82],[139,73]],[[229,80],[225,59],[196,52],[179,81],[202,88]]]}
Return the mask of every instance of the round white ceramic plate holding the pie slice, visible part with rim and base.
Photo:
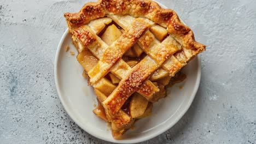
{"label": "round white ceramic plate holding the pie slice, visible part with rim and base", "polygon": [[[165,8],[161,5],[161,7]],[[75,123],[99,139],[117,143],[136,143],[152,139],[176,124],[189,109],[200,83],[201,58],[195,57],[182,70],[187,75],[184,82],[167,89],[167,97],[154,103],[152,115],[139,119],[123,140],[114,140],[106,122],[94,115],[97,99],[93,88],[82,76],[83,68],[75,56],[65,52],[66,46],[77,51],[68,31],[62,35],[55,57],[55,83],[62,105]],[[183,87],[182,89],[180,87]]]}

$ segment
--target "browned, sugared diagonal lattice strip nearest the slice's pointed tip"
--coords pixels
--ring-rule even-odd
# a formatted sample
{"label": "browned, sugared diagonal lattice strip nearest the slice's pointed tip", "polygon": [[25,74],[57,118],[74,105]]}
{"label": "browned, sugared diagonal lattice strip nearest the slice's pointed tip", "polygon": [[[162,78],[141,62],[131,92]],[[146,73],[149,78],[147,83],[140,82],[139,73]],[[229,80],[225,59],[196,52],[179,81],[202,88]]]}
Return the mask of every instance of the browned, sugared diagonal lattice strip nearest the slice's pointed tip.
{"label": "browned, sugared diagonal lattice strip nearest the slice's pointed tip", "polygon": [[[159,65],[152,58],[149,56],[143,58],[142,61],[135,65],[129,74],[119,82],[118,87],[115,88],[108,98],[103,101],[105,109],[108,109],[112,115],[115,115],[131,94],[138,91],[142,82],[158,68]],[[146,88],[144,89],[146,92],[153,90],[146,86],[143,87]]]}

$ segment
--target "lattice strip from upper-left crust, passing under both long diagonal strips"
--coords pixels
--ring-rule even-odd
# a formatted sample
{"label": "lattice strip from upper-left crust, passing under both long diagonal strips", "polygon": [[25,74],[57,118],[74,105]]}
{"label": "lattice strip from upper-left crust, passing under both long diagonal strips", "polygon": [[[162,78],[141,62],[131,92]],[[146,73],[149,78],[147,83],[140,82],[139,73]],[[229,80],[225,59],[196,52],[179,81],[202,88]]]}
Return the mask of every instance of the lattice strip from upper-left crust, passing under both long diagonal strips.
{"label": "lattice strip from upper-left crust, passing under both long diagonal strips", "polygon": [[[101,40],[101,38],[99,38],[93,31],[97,33],[97,29],[92,30],[88,26],[80,26],[78,28],[73,29],[72,32],[73,35],[75,35],[78,38],[78,41],[82,43],[82,47],[88,47],[88,49],[92,53],[94,53],[94,55],[98,59],[100,59],[103,56],[103,52],[107,49],[108,45],[104,43],[104,41]],[[129,67],[129,65],[127,65],[123,61],[123,59],[120,59],[110,70],[110,72],[118,76],[119,79],[123,79],[123,77],[127,75],[130,69],[131,68]],[[100,81],[97,83],[101,83]],[[95,85],[97,85],[97,83],[95,83]],[[143,95],[146,99],[151,99],[153,94],[158,91],[159,89],[152,82],[147,80],[144,82],[144,85],[138,89],[137,92]]]}

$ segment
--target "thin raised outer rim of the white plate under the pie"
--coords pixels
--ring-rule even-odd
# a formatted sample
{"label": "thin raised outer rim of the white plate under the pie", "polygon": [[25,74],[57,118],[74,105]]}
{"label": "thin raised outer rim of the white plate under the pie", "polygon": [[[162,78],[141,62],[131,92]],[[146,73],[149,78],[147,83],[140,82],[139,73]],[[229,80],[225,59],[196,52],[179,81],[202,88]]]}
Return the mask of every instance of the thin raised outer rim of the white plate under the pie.
{"label": "thin raised outer rim of the white plate under the pie", "polygon": [[[158,4],[162,7],[162,8],[167,8],[165,7],[164,5],[162,5],[161,3],[158,2]],[[150,140],[150,139],[153,139],[154,137],[164,133],[165,131],[167,131],[168,129],[172,128],[174,124],[176,124],[184,115],[185,113],[188,111],[188,109],[190,108],[191,104],[193,103],[193,100],[195,99],[195,95],[197,93],[197,90],[199,89],[199,85],[200,85],[200,80],[201,80],[201,56],[200,55],[197,55],[194,59],[197,59],[197,64],[198,64],[198,67],[197,67],[197,79],[196,79],[196,82],[195,82],[195,85],[194,85],[194,88],[193,88],[193,93],[191,94],[191,97],[188,101],[188,104],[186,107],[184,107],[184,109],[182,110],[182,112],[180,112],[178,114],[178,116],[174,119],[174,121],[172,121],[171,123],[167,123],[166,124],[166,127],[156,131],[155,133],[153,134],[150,134],[150,135],[147,135],[147,136],[144,136],[144,137],[141,137],[141,138],[137,138],[135,140],[112,140],[112,139],[105,139],[104,137],[102,137],[101,135],[97,135],[96,133],[94,133],[93,131],[89,130],[89,129],[86,129],[86,127],[83,127],[82,124],[79,123],[78,119],[73,116],[72,112],[69,111],[68,109],[68,106],[65,102],[65,100],[63,99],[63,97],[61,96],[61,90],[60,90],[60,85],[59,85],[59,82],[58,82],[58,61],[59,61],[59,58],[60,58],[60,50],[61,50],[61,47],[64,43],[64,40],[66,39],[68,35],[68,28],[66,29],[66,31],[63,33],[62,37],[61,37],[61,40],[57,46],[57,50],[56,50],[56,55],[55,55],[55,61],[54,61],[54,78],[55,78],[55,86],[56,86],[56,89],[57,89],[57,94],[59,96],[59,99],[61,100],[61,104],[63,105],[65,111],[68,113],[69,117],[71,117],[71,119],[80,127],[82,128],[83,130],[85,130],[88,134],[94,136],[94,137],[97,137],[98,139],[101,139],[101,140],[104,140],[104,141],[108,141],[108,142],[118,142],[118,143],[137,143],[137,142],[143,142],[143,141],[147,141],[147,140]]]}

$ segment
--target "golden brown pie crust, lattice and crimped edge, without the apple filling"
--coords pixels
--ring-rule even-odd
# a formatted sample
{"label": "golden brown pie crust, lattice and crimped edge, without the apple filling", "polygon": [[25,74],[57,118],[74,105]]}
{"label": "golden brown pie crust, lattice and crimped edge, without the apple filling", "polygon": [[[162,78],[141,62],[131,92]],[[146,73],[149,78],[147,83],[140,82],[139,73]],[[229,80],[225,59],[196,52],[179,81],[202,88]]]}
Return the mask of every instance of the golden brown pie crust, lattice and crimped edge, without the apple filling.
{"label": "golden brown pie crust, lattice and crimped edge, without the apple filling", "polygon": [[[149,26],[144,26],[144,29],[141,29],[143,28],[143,23],[139,22],[138,25],[135,25],[136,23],[127,20],[127,26],[125,28],[123,25],[119,25],[117,21],[112,19],[113,16],[118,15],[121,17],[124,15],[131,15],[130,17],[132,17],[132,19],[135,19],[135,17],[144,17],[146,19],[138,18],[137,20],[142,19],[143,21],[147,21],[146,24],[149,22],[150,25],[148,24]],[[157,101],[158,99],[165,97],[165,86],[170,81],[171,76],[184,67],[190,59],[204,51],[206,47],[195,41],[191,29],[179,20],[178,15],[173,10],[162,9],[158,3],[151,0],[98,0],[97,2],[85,4],[79,13],[66,13],[64,16],[66,17],[69,32],[72,33],[72,39],[78,51],[82,52],[84,48],[90,49],[100,60],[95,64],[96,66],[98,65],[98,68],[95,67],[95,69],[92,70],[92,72],[95,73],[93,74],[96,77],[95,80],[91,79],[94,76],[90,75],[92,73],[89,73],[91,79],[89,81],[92,81],[92,84],[95,82],[94,87],[96,95],[104,107],[104,111],[106,110],[106,116],[98,115],[103,116],[103,119],[112,122],[112,133],[115,139],[129,129],[135,122],[135,119],[131,117],[130,113],[123,111],[122,107],[123,104],[127,102],[126,100],[128,100],[130,95],[137,91],[144,97],[145,95],[149,96],[145,97],[149,101]],[[108,16],[108,18],[106,16]],[[105,17],[104,19],[106,20],[106,23],[103,22],[103,19],[98,19],[102,17]],[[111,18],[110,20],[109,17]],[[90,23],[94,22],[93,20],[97,22],[90,26]],[[98,43],[100,38],[97,34],[100,33],[112,20],[123,27],[125,31],[142,32],[139,34],[131,32],[131,34],[136,35],[126,35],[124,32],[120,40],[115,42],[117,45],[112,46],[113,49],[107,49],[107,47],[111,47],[111,45],[108,46],[105,43]],[[97,23],[100,23],[101,25],[96,25]],[[150,31],[147,31],[147,29],[152,25],[155,25],[155,23],[158,23],[157,26],[160,25],[161,27],[164,27],[162,29],[164,29],[165,33],[160,34],[161,42],[155,39],[154,35],[157,34],[152,34]],[[136,43],[137,39],[138,44],[141,46],[140,49],[146,52],[148,56],[144,57],[141,62],[131,69],[129,65],[126,64],[126,66],[122,64],[123,60],[121,59],[119,61],[119,59],[124,55],[126,50],[129,50],[130,47]],[[126,43],[130,45],[126,46],[126,43],[119,43],[121,40],[126,41]],[[121,52],[118,50],[121,50]],[[116,58],[110,56],[116,56]],[[127,69],[125,69],[124,66],[125,68],[127,67]],[[148,80],[148,77],[159,67],[164,68],[163,70],[168,70],[170,76],[167,76],[168,80],[164,77],[155,82],[156,86],[158,86],[156,87]],[[96,82],[107,79],[103,76],[109,71],[114,74],[117,73],[117,70],[119,69],[127,71],[127,73],[120,73],[119,71],[120,74],[118,73],[118,76],[119,78],[123,78],[123,80],[119,82],[117,87],[113,85],[114,88],[112,91],[114,91],[111,91],[111,94],[105,94],[106,91],[102,91],[103,88],[101,87],[99,89],[101,89],[104,94],[100,91],[97,93]],[[102,72],[100,76],[97,76],[96,74],[100,73],[100,70],[105,72]],[[101,79],[102,77],[103,79]],[[154,85],[155,88],[152,85]],[[154,92],[158,92],[159,89],[160,92],[157,93],[158,95],[153,95]],[[106,95],[108,95],[108,97]]]}

